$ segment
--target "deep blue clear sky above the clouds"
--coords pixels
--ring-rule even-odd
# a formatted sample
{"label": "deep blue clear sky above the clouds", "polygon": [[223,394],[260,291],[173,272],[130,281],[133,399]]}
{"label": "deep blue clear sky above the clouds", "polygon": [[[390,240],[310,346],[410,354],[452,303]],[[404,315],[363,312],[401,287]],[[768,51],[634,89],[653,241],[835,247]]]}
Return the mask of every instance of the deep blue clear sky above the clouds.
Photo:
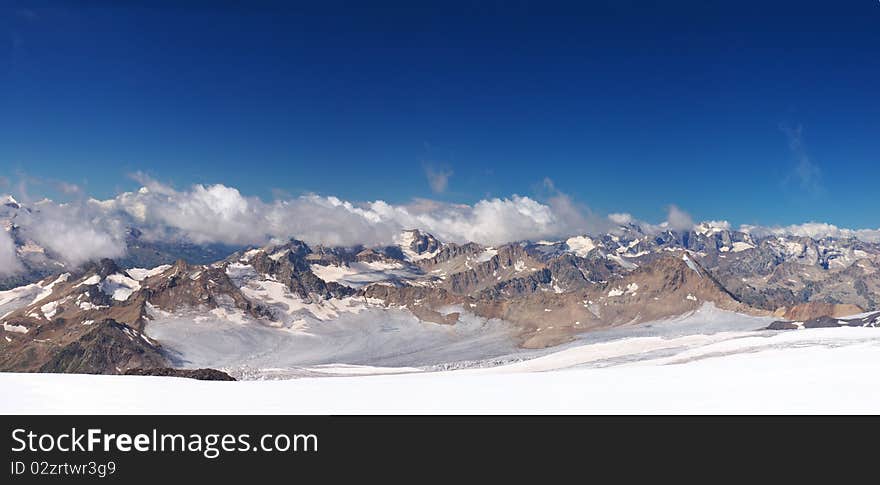
{"label": "deep blue clear sky above the clouds", "polygon": [[474,203],[550,178],[645,220],[880,226],[876,1],[109,3],[0,10],[0,192],[141,171]]}

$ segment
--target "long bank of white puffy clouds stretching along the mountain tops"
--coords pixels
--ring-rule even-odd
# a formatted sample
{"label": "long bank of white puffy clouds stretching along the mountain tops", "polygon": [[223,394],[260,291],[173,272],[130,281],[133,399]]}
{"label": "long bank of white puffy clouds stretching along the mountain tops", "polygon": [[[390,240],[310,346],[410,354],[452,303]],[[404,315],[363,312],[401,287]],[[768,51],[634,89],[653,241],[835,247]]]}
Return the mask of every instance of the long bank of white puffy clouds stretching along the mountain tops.
{"label": "long bank of white puffy clouds stretching along the mountain tops", "polygon": [[[260,246],[290,238],[313,245],[377,246],[394,244],[404,229],[422,229],[441,240],[498,245],[521,240],[560,240],[577,234],[601,234],[635,224],[651,234],[687,231],[693,218],[675,205],[667,220],[651,224],[627,213],[593,214],[545,181],[540,199],[511,195],[472,205],[417,199],[407,204],[382,200],[355,203],[334,196],[279,196],[271,201],[243,195],[222,184],[178,190],[142,174],[142,187],[107,199],[43,200],[19,210],[11,222],[17,235],[32,240],[71,266],[126,253],[126,236],[137,228],[148,241]],[[3,215],[0,214],[0,219]],[[726,221],[708,224],[729,228]],[[880,242],[880,229],[843,229],[808,223],[787,227],[742,226],[754,235],[855,237]],[[21,269],[10,234],[0,231],[0,273]]]}

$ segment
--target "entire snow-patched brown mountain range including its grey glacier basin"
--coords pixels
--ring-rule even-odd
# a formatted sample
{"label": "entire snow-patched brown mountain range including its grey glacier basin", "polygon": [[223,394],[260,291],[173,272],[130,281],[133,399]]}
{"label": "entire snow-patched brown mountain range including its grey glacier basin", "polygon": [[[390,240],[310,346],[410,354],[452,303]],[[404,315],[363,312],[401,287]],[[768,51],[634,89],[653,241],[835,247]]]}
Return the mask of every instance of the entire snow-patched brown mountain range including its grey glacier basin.
{"label": "entire snow-patched brown mountain range including its grey glacier basin", "polygon": [[132,227],[124,258],[68,267],[17,231],[21,210],[13,199],[0,213],[24,264],[0,292],[6,371],[438,365],[706,304],[775,316],[779,329],[880,310],[880,244],[856,238],[625,223],[498,246],[414,229],[389,246],[236,248],[146,241]]}

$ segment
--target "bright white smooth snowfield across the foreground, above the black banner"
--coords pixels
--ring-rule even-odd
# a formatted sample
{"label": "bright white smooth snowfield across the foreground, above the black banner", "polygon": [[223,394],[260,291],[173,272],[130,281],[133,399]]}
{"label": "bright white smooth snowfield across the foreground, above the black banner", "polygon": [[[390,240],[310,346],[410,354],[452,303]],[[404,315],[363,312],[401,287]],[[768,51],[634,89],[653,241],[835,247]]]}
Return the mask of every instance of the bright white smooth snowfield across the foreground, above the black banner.
{"label": "bright white smooth snowfield across the foreground, above the black banner", "polygon": [[[664,348],[684,350],[657,353],[651,342],[664,340],[672,346]],[[645,345],[654,351],[633,358],[630,351]],[[596,355],[630,357],[584,367]],[[621,339],[494,368],[397,375],[203,382],[0,374],[0,412],[878,413],[878,370],[880,334],[872,328],[719,333]]]}

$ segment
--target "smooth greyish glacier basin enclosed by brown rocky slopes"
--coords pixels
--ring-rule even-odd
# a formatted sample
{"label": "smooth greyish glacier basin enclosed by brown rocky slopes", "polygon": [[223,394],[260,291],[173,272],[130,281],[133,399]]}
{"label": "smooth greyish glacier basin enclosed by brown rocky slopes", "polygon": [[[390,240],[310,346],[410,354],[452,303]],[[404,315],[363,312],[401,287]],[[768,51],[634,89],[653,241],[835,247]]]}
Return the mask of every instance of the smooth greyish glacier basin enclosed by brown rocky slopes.
{"label": "smooth greyish glacier basin enclosed by brown rocky slopes", "polygon": [[[422,322],[399,309],[358,308],[302,326],[269,327],[214,314],[163,316],[146,329],[176,365],[222,369],[237,377],[303,376],[327,366],[438,366],[517,353],[510,326],[462,313],[455,325]],[[377,369],[377,373],[388,372]],[[350,369],[340,372],[350,373]]]}

